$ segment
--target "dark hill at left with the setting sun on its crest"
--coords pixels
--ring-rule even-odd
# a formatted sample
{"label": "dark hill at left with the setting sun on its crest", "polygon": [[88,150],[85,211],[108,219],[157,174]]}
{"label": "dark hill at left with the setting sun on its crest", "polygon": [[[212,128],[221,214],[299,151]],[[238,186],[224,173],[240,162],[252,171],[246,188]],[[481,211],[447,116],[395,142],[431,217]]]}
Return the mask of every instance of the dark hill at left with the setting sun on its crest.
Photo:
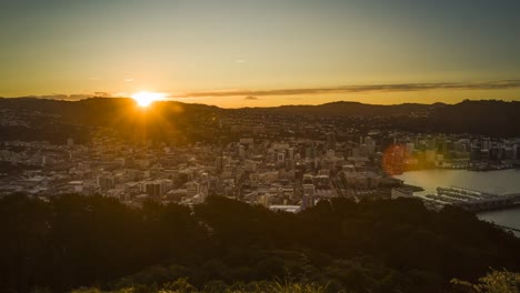
{"label": "dark hill at left with the setting sun on its crest", "polygon": [[136,107],[133,100],[119,98],[81,101],[0,99],[0,109],[3,110],[0,118],[13,118],[9,123],[0,124],[3,140],[48,140],[54,143],[63,143],[68,138],[87,141],[90,130],[97,127],[111,128],[130,137],[136,133],[163,137],[186,130],[198,118],[222,111],[217,107],[173,101],[156,102],[154,107],[143,111]]}

